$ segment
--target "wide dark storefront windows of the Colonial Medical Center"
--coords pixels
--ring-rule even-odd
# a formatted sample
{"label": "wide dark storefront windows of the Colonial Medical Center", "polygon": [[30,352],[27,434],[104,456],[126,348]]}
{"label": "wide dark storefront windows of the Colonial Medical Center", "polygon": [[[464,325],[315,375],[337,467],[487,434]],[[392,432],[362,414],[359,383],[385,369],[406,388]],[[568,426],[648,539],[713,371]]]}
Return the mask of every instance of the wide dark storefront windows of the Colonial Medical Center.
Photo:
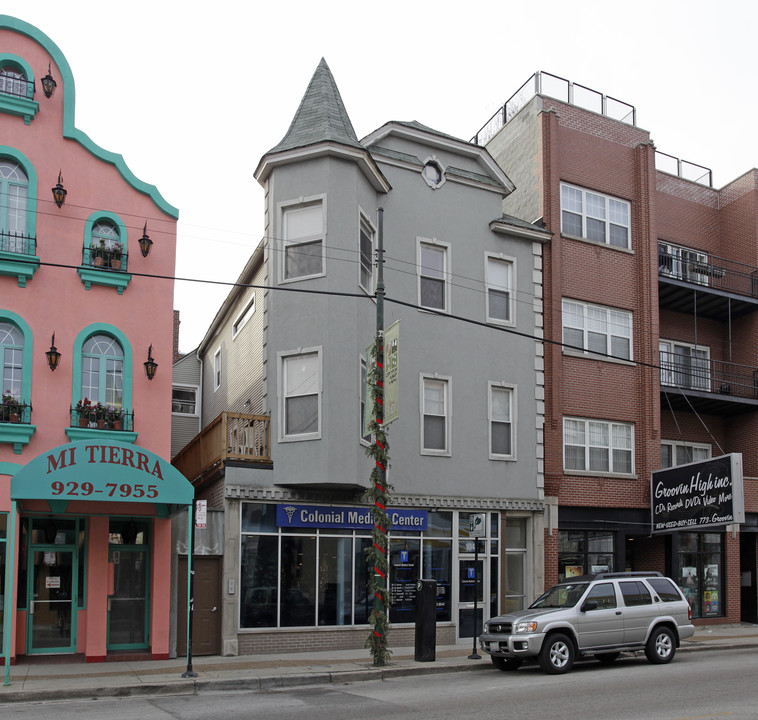
{"label": "wide dark storefront windows of the Colonial Medical Center", "polygon": [[[295,508],[280,506],[279,511],[294,513]],[[334,511],[324,506],[324,512]],[[365,512],[370,510],[353,514]],[[437,581],[437,618],[451,620],[452,528],[452,512],[432,511],[423,532],[390,531],[392,622],[414,622],[421,577]],[[277,522],[277,505],[262,503],[243,503],[241,530],[242,629],[368,622],[374,608],[366,555],[370,530],[297,527],[292,517]]]}

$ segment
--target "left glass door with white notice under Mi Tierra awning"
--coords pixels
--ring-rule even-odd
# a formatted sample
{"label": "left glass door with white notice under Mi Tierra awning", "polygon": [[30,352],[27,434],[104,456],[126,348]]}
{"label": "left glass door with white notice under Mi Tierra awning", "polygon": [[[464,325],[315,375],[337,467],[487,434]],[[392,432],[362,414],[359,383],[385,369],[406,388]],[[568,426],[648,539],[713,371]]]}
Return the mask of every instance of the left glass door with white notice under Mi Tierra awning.
{"label": "left glass door with white notice under Mi Tierra awning", "polygon": [[31,549],[27,652],[75,651],[75,553],[59,546]]}

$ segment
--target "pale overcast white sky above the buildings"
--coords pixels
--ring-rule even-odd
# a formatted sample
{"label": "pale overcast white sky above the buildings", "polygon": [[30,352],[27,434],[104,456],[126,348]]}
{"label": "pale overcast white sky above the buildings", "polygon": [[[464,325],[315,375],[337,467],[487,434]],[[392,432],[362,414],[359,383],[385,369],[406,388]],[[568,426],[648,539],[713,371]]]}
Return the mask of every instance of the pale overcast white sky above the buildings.
{"label": "pale overcast white sky above the buildings", "polygon": [[[263,233],[253,172],[321,57],[359,138],[418,120],[468,140],[544,70],[634,105],[657,149],[716,187],[758,166],[755,0],[15,5],[66,55],[77,127],[179,208],[179,277],[236,280]],[[227,292],[177,283],[182,351]]]}

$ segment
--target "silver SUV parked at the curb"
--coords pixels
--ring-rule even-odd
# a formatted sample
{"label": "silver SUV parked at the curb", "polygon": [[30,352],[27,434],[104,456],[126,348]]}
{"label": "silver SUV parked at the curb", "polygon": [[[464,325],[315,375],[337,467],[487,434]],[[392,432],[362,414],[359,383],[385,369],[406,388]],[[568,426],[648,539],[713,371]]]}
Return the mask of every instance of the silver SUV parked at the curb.
{"label": "silver SUV parked at the curb", "polygon": [[651,663],[671,662],[692,637],[692,611],[673,580],[657,572],[597,573],[567,578],[528,610],[488,620],[479,637],[499,670],[536,658],[545,672],[565,673],[577,657],[613,662],[644,650]]}

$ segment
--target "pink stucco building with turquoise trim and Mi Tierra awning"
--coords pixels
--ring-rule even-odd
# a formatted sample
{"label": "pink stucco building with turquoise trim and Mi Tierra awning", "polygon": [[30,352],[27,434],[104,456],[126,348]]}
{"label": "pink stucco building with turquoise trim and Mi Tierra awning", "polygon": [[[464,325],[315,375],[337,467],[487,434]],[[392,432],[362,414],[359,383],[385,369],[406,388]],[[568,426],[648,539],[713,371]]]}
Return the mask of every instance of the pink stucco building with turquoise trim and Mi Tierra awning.
{"label": "pink stucco building with turquoise trim and Mi Tierra awning", "polygon": [[169,518],[191,503],[163,460],[178,211],[74,126],[75,101],[55,43],[0,15],[0,612],[11,662],[168,657]]}

